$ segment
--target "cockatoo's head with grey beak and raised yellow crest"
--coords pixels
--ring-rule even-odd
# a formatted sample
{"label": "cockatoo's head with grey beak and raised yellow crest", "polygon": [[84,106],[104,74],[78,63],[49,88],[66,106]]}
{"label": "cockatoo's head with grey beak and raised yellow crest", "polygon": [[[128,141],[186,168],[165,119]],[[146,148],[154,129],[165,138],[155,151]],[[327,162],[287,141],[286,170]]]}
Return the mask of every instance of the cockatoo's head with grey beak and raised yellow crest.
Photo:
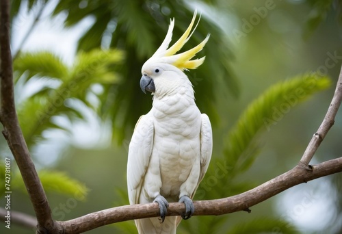
{"label": "cockatoo's head with grey beak and raised yellow crest", "polygon": [[[172,39],[172,30],[174,28],[174,19],[171,20],[168,33],[161,43],[161,46],[142,66],[142,79],[140,79],[140,88],[142,88],[142,92],[156,92],[156,90],[158,92],[168,92],[176,87],[174,86],[176,83],[181,83],[183,81],[189,82],[187,76],[183,73],[183,70],[196,69],[204,62],[205,57],[196,60],[191,59],[205,47],[205,44],[209,40],[209,35],[196,47],[183,53],[176,54],[194,33],[198,25],[197,23],[192,31],[195,19],[196,11],[194,12],[192,22],[189,27],[187,27],[183,36],[181,36],[172,47],[168,48]],[[191,31],[192,33],[190,34]]]}

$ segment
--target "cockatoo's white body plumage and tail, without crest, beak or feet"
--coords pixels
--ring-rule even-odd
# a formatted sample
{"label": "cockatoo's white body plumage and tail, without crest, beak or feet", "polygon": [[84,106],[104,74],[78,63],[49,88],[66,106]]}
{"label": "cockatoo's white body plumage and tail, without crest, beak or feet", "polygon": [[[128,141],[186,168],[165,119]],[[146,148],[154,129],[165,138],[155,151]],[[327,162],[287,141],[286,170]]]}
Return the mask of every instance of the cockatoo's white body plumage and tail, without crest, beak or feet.
{"label": "cockatoo's white body plumage and tail, without crest, beak or feet", "polygon": [[[155,77],[153,107],[138,120],[129,145],[131,204],[151,203],[158,195],[168,202],[183,195],[193,198],[211,159],[209,118],[200,114],[189,79],[177,68],[170,72],[168,66],[159,66],[167,72]],[[179,219],[166,217],[163,224],[158,218],[135,222],[139,233],[175,233]]]}

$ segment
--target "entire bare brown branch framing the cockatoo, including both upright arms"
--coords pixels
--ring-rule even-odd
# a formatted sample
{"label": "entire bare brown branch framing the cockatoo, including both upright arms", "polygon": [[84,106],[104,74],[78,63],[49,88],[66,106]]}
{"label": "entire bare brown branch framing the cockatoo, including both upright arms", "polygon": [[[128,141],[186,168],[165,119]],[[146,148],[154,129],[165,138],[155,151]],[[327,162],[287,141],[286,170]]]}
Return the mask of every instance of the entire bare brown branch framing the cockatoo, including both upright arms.
{"label": "entire bare brown branch framing the cockatoo, including both upright arms", "polygon": [[[29,155],[23,133],[18,124],[14,104],[14,84],[12,74],[12,57],[10,51],[10,3],[1,0],[0,3],[0,77],[1,77],[1,109],[0,121],[3,124],[3,135],[14,155],[14,159],[21,171],[29,198],[36,213],[37,233],[82,233],[98,226],[122,222],[139,218],[159,216],[157,203],[144,205],[126,205],[90,213],[86,216],[64,222],[58,222],[51,217],[51,208],[44,193],[42,184]],[[315,166],[309,166],[319,144],[324,140],[342,101],[342,69],[337,81],[337,88],[326,117],[317,133],[308,144],[302,159],[295,168],[280,176],[255,187],[248,192],[216,200],[194,201],[194,216],[218,216],[236,211],[250,211],[249,207],[267,200],[268,198],[287,190],[300,183],[306,183],[319,177],[342,172],[342,157],[325,161]],[[168,216],[180,216],[185,210],[183,203],[170,203]],[[0,210],[1,211],[1,210]],[[1,212],[0,212],[1,213]],[[15,212],[14,212],[15,213]],[[12,216],[13,217],[13,216]],[[30,221],[31,225],[33,221]]]}

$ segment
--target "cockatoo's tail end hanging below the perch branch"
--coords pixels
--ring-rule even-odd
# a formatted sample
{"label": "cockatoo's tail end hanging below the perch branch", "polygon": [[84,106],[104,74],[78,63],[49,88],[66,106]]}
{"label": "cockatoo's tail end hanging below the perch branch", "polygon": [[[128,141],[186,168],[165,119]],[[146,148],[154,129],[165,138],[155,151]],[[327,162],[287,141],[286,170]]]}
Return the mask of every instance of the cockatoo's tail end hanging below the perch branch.
{"label": "cockatoo's tail end hanging below the perch branch", "polygon": [[166,217],[161,223],[159,218],[143,218],[135,220],[139,234],[176,234],[177,216]]}

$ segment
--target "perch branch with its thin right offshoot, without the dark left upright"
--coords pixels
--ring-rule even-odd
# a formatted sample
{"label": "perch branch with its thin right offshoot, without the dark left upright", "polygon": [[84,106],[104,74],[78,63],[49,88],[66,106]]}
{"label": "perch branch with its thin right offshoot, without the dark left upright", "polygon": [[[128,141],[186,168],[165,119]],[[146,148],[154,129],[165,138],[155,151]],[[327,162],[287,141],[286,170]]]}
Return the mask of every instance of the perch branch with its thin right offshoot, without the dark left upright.
{"label": "perch branch with its thin right offshoot, without the dark left upright", "polygon": [[[329,174],[342,172],[342,157],[325,161],[315,166],[309,166],[315,151],[319,144],[324,140],[329,129],[334,123],[334,118],[337,114],[342,101],[342,68],[337,81],[337,88],[332,97],[331,104],[323,122],[319,126],[317,133],[308,144],[302,159],[295,168],[281,174],[280,176],[255,187],[248,192],[239,195],[222,198],[217,200],[201,200],[194,201],[195,213],[194,216],[219,216],[226,213],[236,211],[248,211],[249,207],[283,192],[290,187],[300,183],[306,183],[319,177],[325,177]],[[182,203],[170,203],[168,207],[168,216],[180,216],[185,209]],[[64,233],[82,233],[91,229],[96,229],[98,226],[111,224],[114,222],[122,222],[126,220],[134,220],[140,218],[151,218],[159,216],[159,207],[157,203],[149,203],[144,205],[130,205],[123,207],[115,207],[90,213],[86,216],[60,222],[64,229]]]}

